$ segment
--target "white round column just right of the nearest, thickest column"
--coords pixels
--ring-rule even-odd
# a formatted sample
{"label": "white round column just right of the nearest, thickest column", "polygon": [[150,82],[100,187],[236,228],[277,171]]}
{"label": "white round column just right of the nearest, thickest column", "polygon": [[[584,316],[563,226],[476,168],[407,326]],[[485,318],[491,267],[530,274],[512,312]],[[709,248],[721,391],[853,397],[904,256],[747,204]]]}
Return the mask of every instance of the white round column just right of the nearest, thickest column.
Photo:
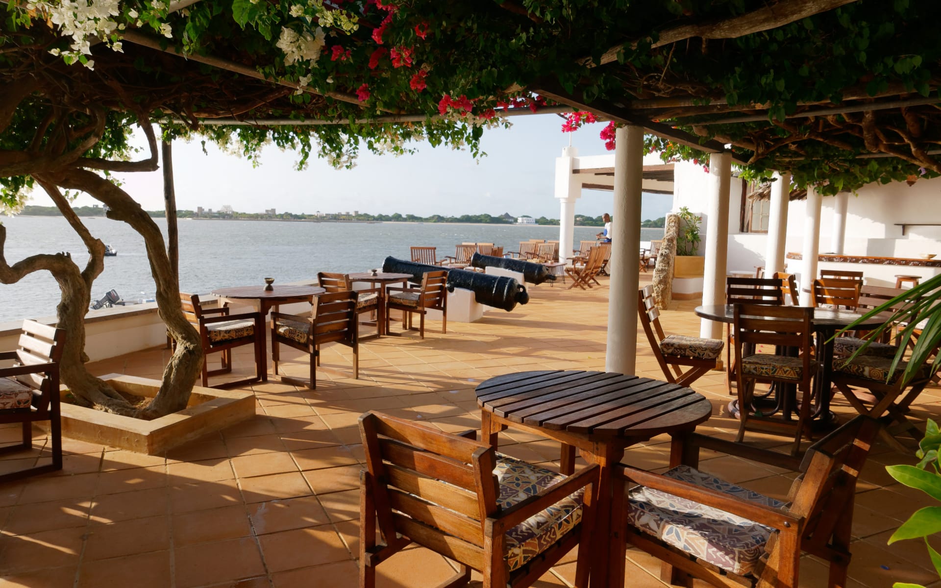
{"label": "white round column just right of the nearest, thickest column", "polygon": [[[726,303],[728,257],[728,198],[732,181],[730,153],[711,153],[709,160],[709,208],[706,209],[706,265],[703,271],[703,305]],[[703,319],[699,336],[722,339],[722,324]]]}

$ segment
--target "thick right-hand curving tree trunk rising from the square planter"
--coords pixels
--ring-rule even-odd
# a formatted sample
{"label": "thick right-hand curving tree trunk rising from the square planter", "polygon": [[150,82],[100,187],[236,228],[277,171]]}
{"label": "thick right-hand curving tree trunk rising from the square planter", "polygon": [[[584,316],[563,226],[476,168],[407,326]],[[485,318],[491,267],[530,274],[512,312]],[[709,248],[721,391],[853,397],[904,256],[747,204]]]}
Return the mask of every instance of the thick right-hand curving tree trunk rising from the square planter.
{"label": "thick right-hand curving tree trunk rising from the square planter", "polygon": [[50,178],[62,187],[87,192],[92,198],[107,205],[110,209],[108,218],[126,222],[144,238],[151,274],[157,287],[160,318],[177,345],[164,370],[160,390],[139,416],[149,419],[183,410],[202,370],[203,353],[199,333],[183,315],[180,287],[160,229],[127,192],[96,173],[86,169],[69,169],[50,174]]}

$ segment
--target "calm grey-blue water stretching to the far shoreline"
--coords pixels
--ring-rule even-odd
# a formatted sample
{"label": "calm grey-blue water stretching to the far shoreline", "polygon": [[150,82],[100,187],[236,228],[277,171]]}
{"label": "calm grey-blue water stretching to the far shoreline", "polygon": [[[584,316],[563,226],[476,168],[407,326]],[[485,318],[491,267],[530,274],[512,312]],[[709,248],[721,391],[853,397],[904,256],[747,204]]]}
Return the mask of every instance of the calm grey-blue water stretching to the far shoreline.
{"label": "calm grey-blue water stretching to the far shoreline", "polygon": [[[92,299],[111,289],[124,299],[152,298],[153,278],[144,242],[126,224],[104,217],[84,219],[88,230],[118,249],[104,258]],[[156,219],[166,231],[166,221]],[[84,266],[88,253],[81,240],[58,216],[3,218],[7,227],[6,258],[13,264],[36,253],[69,251]],[[357,272],[378,267],[386,256],[408,259],[409,246],[437,246],[438,255],[454,255],[463,241],[494,243],[517,250],[530,238],[558,239],[558,227],[417,223],[310,223],[276,221],[180,220],[180,286],[205,294],[215,288],[315,278],[317,272]],[[575,244],[594,239],[598,227],[576,227]],[[659,239],[662,229],[641,230],[641,240]],[[13,285],[0,284],[0,322],[56,314],[56,280],[39,272]]]}

